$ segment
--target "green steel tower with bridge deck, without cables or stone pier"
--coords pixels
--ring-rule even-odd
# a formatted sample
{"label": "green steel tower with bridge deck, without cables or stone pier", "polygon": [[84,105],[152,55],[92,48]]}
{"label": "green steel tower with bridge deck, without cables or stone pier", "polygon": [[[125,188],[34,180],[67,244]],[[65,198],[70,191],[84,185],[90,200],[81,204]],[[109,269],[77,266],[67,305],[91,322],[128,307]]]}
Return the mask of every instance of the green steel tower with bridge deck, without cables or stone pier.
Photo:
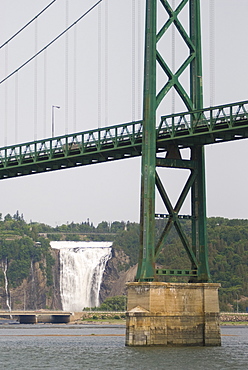
{"label": "green steel tower with bridge deck, without cables or stone pier", "polygon": [[[162,12],[158,11],[158,5]],[[183,27],[180,15],[182,12],[185,15],[185,10],[188,24]],[[161,22],[163,15],[165,21],[157,30],[158,17]],[[164,47],[163,53],[159,50],[159,43],[172,25],[188,50],[176,71],[166,63]],[[2,147],[0,180],[142,156],[141,240],[136,280],[149,282],[164,275],[188,277],[189,282],[209,282],[204,146],[248,138],[248,101],[203,108],[200,0],[178,1],[175,9],[167,0],[146,0],[144,60],[143,120]],[[186,70],[189,88],[184,87],[180,79]],[[158,91],[160,78],[166,82],[160,83],[162,87]],[[185,111],[158,119],[158,108],[172,88]],[[185,148],[190,152],[188,159],[182,156]],[[189,171],[175,206],[157,168]],[[156,215],[156,189],[167,214]],[[191,194],[191,214],[183,216],[180,210],[188,194]],[[167,221],[157,242],[156,216]],[[190,238],[181,218],[191,220]],[[173,226],[187,253],[190,268],[156,268],[156,259]]]}

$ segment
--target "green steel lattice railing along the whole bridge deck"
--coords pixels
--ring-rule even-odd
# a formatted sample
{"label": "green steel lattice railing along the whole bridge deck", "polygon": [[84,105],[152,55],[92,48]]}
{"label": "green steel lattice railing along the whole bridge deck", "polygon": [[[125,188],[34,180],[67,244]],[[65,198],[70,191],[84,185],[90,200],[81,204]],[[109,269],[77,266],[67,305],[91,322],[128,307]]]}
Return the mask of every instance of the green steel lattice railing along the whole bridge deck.
{"label": "green steel lattice railing along the whole bridge deck", "polygon": [[[157,138],[171,140],[209,134],[218,130],[247,126],[247,121],[248,101],[172,114],[161,117],[157,127]],[[2,147],[0,169],[136,147],[141,145],[142,132],[143,121],[136,121]]]}

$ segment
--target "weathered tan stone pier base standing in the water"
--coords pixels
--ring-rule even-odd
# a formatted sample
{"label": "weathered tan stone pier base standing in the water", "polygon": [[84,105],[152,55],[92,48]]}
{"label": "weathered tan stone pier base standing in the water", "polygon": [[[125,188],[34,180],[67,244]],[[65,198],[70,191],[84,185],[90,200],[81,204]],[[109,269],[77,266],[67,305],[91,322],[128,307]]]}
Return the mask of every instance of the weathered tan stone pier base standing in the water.
{"label": "weathered tan stone pier base standing in the water", "polygon": [[126,345],[220,346],[219,286],[128,283]]}

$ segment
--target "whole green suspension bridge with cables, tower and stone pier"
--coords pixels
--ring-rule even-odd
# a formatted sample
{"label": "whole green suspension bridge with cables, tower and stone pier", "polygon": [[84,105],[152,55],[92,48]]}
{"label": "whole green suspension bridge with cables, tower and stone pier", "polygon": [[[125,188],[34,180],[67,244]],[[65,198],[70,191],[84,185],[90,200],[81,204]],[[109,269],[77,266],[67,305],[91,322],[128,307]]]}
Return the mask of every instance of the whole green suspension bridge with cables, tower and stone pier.
{"label": "whole green suspension bridge with cables, tower and stone pier", "polygon": [[[87,4],[86,4],[87,3]],[[141,6],[140,1],[130,1],[131,27],[125,26],[123,40],[118,38],[121,50],[125,49],[124,38],[129,37],[131,48],[131,73],[124,79],[129,79],[131,88],[126,90],[129,96],[130,119],[126,119],[126,108],[121,109],[124,124],[116,124],[110,119],[108,79],[115,74],[116,66],[126,65],[118,53],[109,54],[109,39],[121,30],[123,22],[121,7],[116,18],[115,32],[109,32],[109,7],[112,3],[104,0],[92,3],[87,1],[80,16],[69,22],[69,2],[65,0],[64,29],[57,35],[43,42],[38,47],[38,21],[42,21],[44,14],[49,14],[56,0],[46,4],[29,22],[20,27],[19,31],[7,38],[0,50],[4,51],[4,76],[0,80],[2,90],[1,109],[4,114],[3,139],[0,147],[0,179],[17,178],[31,174],[51,172],[55,170],[110,162],[125,158],[141,157],[141,204],[140,204],[140,250],[136,282],[128,286],[128,313],[127,313],[127,345],[154,345],[154,344],[198,344],[220,345],[218,326],[218,284],[211,283],[208,267],[208,245],[206,232],[206,186],[205,186],[205,146],[229,141],[238,141],[248,137],[248,101],[214,105],[214,30],[215,7],[214,1],[209,1],[209,30],[210,30],[210,107],[204,108],[203,99],[203,67],[202,67],[202,37],[200,0],[146,0]],[[102,6],[103,5],[103,6]],[[144,6],[145,5],[145,6]],[[119,6],[119,5],[118,5]],[[206,6],[206,5],[205,5]],[[92,22],[94,12],[98,12],[98,26]],[[144,15],[144,17],[142,16]],[[48,16],[49,17],[49,16]],[[142,18],[143,17],[143,18]],[[50,25],[52,32],[54,22],[46,18],[45,23]],[[142,19],[144,26],[142,29]],[[84,63],[79,62],[77,45],[79,38],[79,24],[86,24],[82,38],[86,32],[95,31],[95,38],[88,50],[84,50]],[[33,25],[32,37],[34,52],[32,56],[18,61],[14,66],[15,58],[11,58],[10,45],[22,32],[28,32]],[[104,27],[103,27],[104,25]],[[49,27],[47,27],[49,29]],[[70,34],[74,29],[72,41],[73,52],[70,48]],[[141,42],[141,30],[145,34],[144,44]],[[129,32],[128,32],[129,31]],[[47,34],[47,30],[45,32]],[[45,36],[45,33],[43,36]],[[49,32],[48,32],[49,33]],[[119,34],[120,35],[120,34]],[[103,37],[104,36],[104,37]],[[125,37],[124,37],[125,36]],[[48,51],[55,43],[61,42],[64,37],[64,59],[57,59],[52,72],[48,67]],[[122,37],[122,36],[121,36]],[[143,39],[143,38],[142,38]],[[122,42],[123,41],[123,42]],[[92,46],[95,45],[95,54]],[[141,46],[144,48],[144,74],[141,78]],[[103,52],[104,49],[104,52]],[[96,52],[97,50],[97,52]],[[123,51],[122,50],[122,51]],[[169,50],[169,52],[168,52]],[[183,50],[183,53],[181,51]],[[39,68],[40,55],[44,55],[43,67]],[[56,58],[57,51],[51,55]],[[183,55],[182,55],[183,54]],[[70,56],[73,55],[73,62]],[[123,56],[124,54],[122,54]],[[169,56],[169,58],[168,58]],[[109,62],[114,60],[112,67]],[[86,64],[93,64],[97,73],[92,79],[88,78]],[[96,63],[97,61],[97,63]],[[33,64],[31,64],[33,63]],[[73,64],[73,73],[70,74],[70,64]],[[32,66],[33,93],[26,88],[26,77],[22,77],[23,69]],[[62,74],[61,74],[62,65]],[[97,109],[91,110],[92,117],[97,125],[88,129],[77,130],[77,96],[79,85],[79,65],[85,69],[87,83],[82,84],[80,105],[83,110],[88,107],[88,99],[93,96]],[[10,71],[11,70],[11,71]],[[60,70],[60,74],[58,71]],[[39,71],[39,73],[38,73]],[[122,75],[124,68],[121,68]],[[57,75],[57,80],[54,75]],[[43,77],[42,77],[43,76]],[[61,77],[62,76],[62,77]],[[73,76],[73,77],[72,77]],[[49,78],[48,78],[49,77]],[[24,79],[23,79],[24,78]],[[115,76],[116,78],[116,76]],[[63,86],[61,79],[64,80]],[[57,134],[55,109],[60,105],[51,103],[51,84],[56,80],[56,90],[64,91],[65,118],[64,133]],[[89,88],[92,81],[97,88]],[[117,85],[124,90],[123,82]],[[143,80],[143,104],[141,104],[141,82]],[[12,81],[12,82],[11,82]],[[13,82],[14,81],[14,82]],[[43,81],[41,83],[41,81]],[[73,82],[72,82],[73,81]],[[21,83],[22,82],[22,83]],[[19,92],[23,85],[23,92]],[[43,86],[43,98],[38,86]],[[70,91],[72,96],[69,97]],[[23,110],[23,96],[32,95],[33,139],[20,140],[20,115],[26,117]],[[114,93],[120,100],[120,95]],[[9,113],[9,97],[14,96],[13,112]],[[102,98],[103,96],[103,98]],[[170,108],[168,108],[168,99]],[[40,134],[40,100],[43,101],[43,139]],[[46,116],[48,100],[52,107],[52,135],[46,135]],[[102,103],[104,100],[104,106]],[[81,104],[81,103],[84,104]],[[96,103],[97,102],[97,103]],[[56,102],[57,104],[57,102]],[[143,114],[141,115],[141,105]],[[71,109],[73,106],[73,109]],[[112,104],[111,107],[114,105]],[[80,106],[81,112],[82,107]],[[10,117],[9,117],[10,115]],[[104,116],[104,120],[102,117]],[[125,117],[124,117],[125,116]],[[9,125],[9,121],[14,125]],[[74,121],[74,130],[69,133],[69,122]],[[86,120],[87,121],[87,120]],[[57,122],[57,121],[56,121]],[[104,123],[104,124],[103,124]],[[96,127],[98,126],[98,127]],[[15,144],[9,145],[9,131],[12,130]],[[22,126],[24,129],[24,127]],[[25,131],[25,130],[24,130]],[[187,155],[185,155],[185,150]],[[181,189],[175,205],[171,201],[163,178],[160,174],[165,168],[187,170],[188,178]],[[170,178],[167,182],[172,181]],[[156,197],[160,195],[164,206],[164,213],[156,212]],[[190,213],[184,215],[181,209],[190,198]],[[166,223],[158,240],[155,238],[155,219],[163,218]],[[191,235],[187,236],[182,219],[191,223]],[[157,266],[156,260],[162,249],[166,248],[168,235],[174,228],[181,240],[188,256],[188,264],[170,268]],[[187,283],[165,283],[162,279],[187,279]],[[180,281],[180,280],[179,280]],[[185,280],[183,280],[185,281]]]}

